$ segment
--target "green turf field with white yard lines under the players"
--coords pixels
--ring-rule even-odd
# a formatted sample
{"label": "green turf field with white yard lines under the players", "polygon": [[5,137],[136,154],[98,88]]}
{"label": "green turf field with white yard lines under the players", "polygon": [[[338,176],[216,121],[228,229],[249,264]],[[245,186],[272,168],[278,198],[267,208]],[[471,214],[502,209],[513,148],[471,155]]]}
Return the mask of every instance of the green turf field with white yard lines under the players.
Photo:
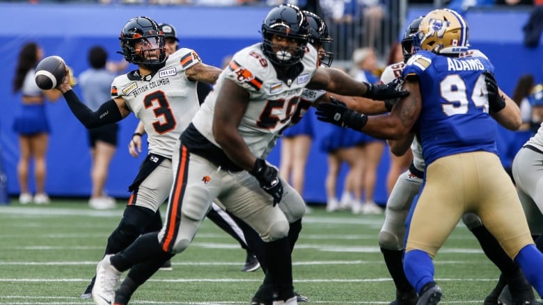
{"label": "green turf field with white yard lines under the players", "polygon": [[[0,206],[0,304],[92,304],[79,299],[109,233],[123,213],[95,211],[82,200],[49,206]],[[393,282],[379,251],[383,215],[326,213],[304,217],[293,254],[294,287],[309,304],[388,304]],[[240,272],[245,252],[205,220],[193,244],[159,271],[131,304],[250,304],[262,272]],[[434,259],[441,304],[482,304],[498,270],[459,225]]]}

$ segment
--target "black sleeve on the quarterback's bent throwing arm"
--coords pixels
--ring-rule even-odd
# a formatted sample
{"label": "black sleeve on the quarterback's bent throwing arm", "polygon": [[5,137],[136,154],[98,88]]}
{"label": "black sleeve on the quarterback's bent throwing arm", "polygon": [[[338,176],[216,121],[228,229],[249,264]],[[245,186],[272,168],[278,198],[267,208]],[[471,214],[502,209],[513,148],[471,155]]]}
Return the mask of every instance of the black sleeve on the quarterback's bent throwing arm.
{"label": "black sleeve on the quarterback's bent throwing arm", "polygon": [[81,103],[74,90],[66,92],[64,99],[75,117],[88,129],[119,122],[123,119],[123,115],[120,114],[119,108],[113,99],[106,101],[97,111],[93,111]]}

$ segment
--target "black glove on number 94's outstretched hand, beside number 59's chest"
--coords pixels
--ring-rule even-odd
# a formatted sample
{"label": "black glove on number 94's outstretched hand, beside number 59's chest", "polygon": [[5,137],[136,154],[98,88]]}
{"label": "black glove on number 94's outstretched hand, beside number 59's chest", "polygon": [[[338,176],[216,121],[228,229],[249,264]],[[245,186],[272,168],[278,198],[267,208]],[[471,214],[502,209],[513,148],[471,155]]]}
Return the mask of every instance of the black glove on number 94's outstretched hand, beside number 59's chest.
{"label": "black glove on number 94's outstretched hand, beside number 59's chest", "polygon": [[356,131],[360,131],[368,122],[368,117],[350,110],[345,104],[338,99],[330,97],[331,103],[323,103],[317,106],[317,119],[322,122],[328,122],[340,127],[350,127]]}

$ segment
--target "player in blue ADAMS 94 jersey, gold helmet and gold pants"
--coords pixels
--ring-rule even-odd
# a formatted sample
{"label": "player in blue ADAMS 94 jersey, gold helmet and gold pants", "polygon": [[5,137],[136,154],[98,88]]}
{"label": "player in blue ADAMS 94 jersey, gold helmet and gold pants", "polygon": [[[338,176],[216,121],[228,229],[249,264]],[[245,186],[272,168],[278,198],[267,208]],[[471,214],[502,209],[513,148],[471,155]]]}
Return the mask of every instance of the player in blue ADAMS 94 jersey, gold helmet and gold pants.
{"label": "player in blue ADAMS 94 jersey, gold helmet and gold pants", "polygon": [[[409,97],[390,115],[368,117],[339,104],[320,106],[320,119],[373,136],[402,139],[416,131],[425,179],[407,228],[404,270],[417,304],[438,304],[432,258],[464,213],[483,224],[543,294],[543,254],[526,224],[519,197],[496,151],[496,124],[518,129],[519,108],[501,96],[494,66],[469,52],[468,25],[453,10],[433,10],[414,37],[420,49],[402,72]],[[460,56],[463,54],[462,56]]]}

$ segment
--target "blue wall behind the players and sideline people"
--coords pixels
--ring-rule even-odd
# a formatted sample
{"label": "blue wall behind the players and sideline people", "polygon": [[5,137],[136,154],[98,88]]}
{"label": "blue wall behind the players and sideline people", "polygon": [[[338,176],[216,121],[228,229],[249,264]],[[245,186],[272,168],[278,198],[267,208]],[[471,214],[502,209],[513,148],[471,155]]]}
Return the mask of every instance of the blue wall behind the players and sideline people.
{"label": "blue wall behind the players and sideline people", "polygon": [[[26,3],[0,3],[0,16],[9,26],[0,27],[0,53],[3,65],[0,72],[5,80],[0,82],[3,93],[0,112],[0,145],[4,167],[8,176],[8,192],[18,195],[16,165],[19,158],[17,135],[12,131],[13,115],[19,108],[20,97],[13,94],[11,79],[15,71],[17,53],[22,44],[38,42],[46,56],[58,55],[65,59],[75,74],[88,67],[87,51],[101,44],[109,51],[111,60],[120,60],[118,34],[131,17],[149,16],[158,22],[171,23],[177,28],[180,44],[195,49],[205,63],[220,66],[224,56],[258,42],[261,39],[260,25],[269,8],[265,7],[193,7],[193,6],[102,6],[102,5],[31,5]],[[410,10],[407,20],[423,15],[428,10]],[[496,79],[508,94],[521,74],[532,73],[536,80],[543,81],[542,48],[527,49],[522,44],[521,27],[528,20],[526,11],[474,11],[466,14],[471,28],[471,44],[481,49],[496,65]],[[75,88],[79,93],[79,88]],[[60,99],[47,108],[52,122],[52,135],[47,154],[47,186],[52,196],[87,197],[91,192],[89,169],[91,159],[88,152],[87,133],[72,115],[65,101]],[[326,134],[328,125],[317,121],[317,138],[313,142],[306,172],[304,198],[310,202],[325,202],[324,178],[327,171],[326,154],[318,149],[318,142]],[[116,197],[127,197],[127,186],[132,182],[143,158],[129,156],[127,145],[137,124],[130,115],[120,123],[118,151],[113,158],[107,192]],[[501,131],[502,133],[502,131]],[[515,138],[503,131],[503,139]],[[510,142],[503,140],[500,147],[510,149]],[[510,141],[510,140],[507,140]],[[278,147],[269,160],[278,165]],[[510,149],[511,150],[511,149]],[[145,152],[143,153],[145,154]],[[503,158],[504,163],[507,160]],[[386,201],[386,172],[389,152],[385,149],[379,171],[375,201]],[[343,188],[344,167],[338,180],[338,193]],[[34,186],[31,185],[31,190]]]}

